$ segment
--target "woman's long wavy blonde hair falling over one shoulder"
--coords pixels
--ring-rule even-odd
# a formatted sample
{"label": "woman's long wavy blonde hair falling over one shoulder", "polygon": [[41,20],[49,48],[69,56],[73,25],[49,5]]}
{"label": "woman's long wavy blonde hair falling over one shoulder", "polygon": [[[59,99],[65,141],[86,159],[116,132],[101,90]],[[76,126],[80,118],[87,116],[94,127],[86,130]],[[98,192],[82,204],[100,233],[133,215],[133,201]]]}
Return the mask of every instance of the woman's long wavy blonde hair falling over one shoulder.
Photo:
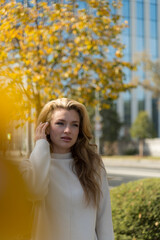
{"label": "woman's long wavy blonde hair falling over one shoulder", "polygon": [[[51,121],[55,109],[75,110],[80,117],[79,135],[72,146],[72,170],[78,176],[84,190],[86,203],[98,206],[101,196],[101,170],[104,169],[101,157],[95,144],[91,143],[91,124],[86,107],[68,98],[60,98],[48,102],[40,112],[37,125],[40,122]],[[49,136],[48,136],[48,141]]]}

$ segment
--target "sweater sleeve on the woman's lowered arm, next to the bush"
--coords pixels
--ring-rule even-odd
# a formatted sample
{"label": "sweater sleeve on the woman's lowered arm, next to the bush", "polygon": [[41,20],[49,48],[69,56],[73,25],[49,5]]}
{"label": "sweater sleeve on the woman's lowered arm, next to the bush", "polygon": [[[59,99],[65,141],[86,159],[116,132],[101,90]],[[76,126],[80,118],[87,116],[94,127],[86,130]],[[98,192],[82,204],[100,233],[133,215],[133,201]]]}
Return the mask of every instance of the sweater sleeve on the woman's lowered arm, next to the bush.
{"label": "sweater sleeve on the woman's lowered arm, next to the bush", "polygon": [[111,202],[106,171],[102,171],[101,199],[97,211],[96,233],[98,240],[114,240]]}

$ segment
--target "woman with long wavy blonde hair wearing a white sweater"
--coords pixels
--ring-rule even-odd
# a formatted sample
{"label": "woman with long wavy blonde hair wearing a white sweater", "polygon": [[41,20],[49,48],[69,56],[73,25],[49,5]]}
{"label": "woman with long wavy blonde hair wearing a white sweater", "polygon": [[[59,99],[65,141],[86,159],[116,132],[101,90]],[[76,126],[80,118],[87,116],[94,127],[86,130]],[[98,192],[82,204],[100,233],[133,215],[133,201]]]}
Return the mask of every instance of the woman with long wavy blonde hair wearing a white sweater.
{"label": "woman with long wavy blonde hair wearing a white sweater", "polygon": [[107,176],[90,143],[85,106],[67,98],[50,101],[37,125],[36,145],[24,171],[36,206],[34,238],[113,240]]}

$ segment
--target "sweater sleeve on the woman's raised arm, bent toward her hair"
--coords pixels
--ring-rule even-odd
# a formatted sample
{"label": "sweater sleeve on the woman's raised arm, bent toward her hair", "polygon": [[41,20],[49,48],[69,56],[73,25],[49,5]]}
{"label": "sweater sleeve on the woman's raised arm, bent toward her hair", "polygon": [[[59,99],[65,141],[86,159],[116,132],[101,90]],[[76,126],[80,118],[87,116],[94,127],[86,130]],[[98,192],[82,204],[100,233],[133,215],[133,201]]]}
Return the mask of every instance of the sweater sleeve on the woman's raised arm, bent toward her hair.
{"label": "sweater sleeve on the woman's raised arm, bent toward her hair", "polygon": [[28,160],[22,161],[20,171],[29,191],[30,200],[41,200],[48,192],[50,148],[45,139],[39,139]]}

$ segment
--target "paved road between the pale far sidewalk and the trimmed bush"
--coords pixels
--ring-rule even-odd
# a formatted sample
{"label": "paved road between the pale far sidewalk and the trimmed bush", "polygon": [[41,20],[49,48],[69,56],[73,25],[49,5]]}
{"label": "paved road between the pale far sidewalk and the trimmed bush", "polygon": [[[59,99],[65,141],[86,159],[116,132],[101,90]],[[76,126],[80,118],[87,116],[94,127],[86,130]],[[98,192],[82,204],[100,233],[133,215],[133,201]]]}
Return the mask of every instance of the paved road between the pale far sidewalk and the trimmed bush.
{"label": "paved road between the pale far sidewalk and the trimmed bush", "polygon": [[142,178],[160,177],[160,168],[142,166],[106,166],[110,188]]}

